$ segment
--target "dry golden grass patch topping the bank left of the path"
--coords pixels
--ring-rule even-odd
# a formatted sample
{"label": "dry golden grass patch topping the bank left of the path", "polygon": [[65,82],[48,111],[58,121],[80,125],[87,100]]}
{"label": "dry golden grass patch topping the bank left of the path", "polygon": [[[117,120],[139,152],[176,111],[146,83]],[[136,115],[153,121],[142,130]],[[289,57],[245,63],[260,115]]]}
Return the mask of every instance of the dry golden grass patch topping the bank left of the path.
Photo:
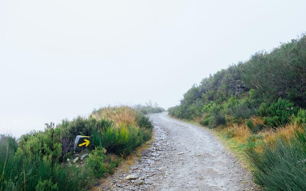
{"label": "dry golden grass patch topping the bank left of the path", "polygon": [[105,107],[93,116],[97,119],[111,119],[117,127],[137,126],[136,111],[129,106]]}

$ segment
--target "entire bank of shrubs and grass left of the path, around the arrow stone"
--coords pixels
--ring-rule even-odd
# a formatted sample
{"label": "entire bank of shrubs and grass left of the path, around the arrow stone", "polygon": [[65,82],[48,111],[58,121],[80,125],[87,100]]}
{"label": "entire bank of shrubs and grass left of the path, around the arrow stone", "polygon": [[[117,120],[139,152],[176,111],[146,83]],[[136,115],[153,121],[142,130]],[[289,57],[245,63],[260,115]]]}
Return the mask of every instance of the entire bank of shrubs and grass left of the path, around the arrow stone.
{"label": "entire bank of shrubs and grass left of the path, around the arrow stone", "polygon": [[[120,106],[63,120],[56,127],[46,124],[44,131],[32,131],[18,140],[0,135],[0,191],[88,190],[148,141],[152,131],[146,116]],[[73,151],[76,135],[92,136],[81,153]]]}

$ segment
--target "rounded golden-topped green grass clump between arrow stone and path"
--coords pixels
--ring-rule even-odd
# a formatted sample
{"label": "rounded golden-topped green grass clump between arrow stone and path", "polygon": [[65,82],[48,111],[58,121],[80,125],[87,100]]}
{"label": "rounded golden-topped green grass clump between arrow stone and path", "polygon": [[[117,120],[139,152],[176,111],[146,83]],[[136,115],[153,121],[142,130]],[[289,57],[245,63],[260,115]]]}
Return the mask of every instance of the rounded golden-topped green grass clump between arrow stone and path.
{"label": "rounded golden-topped green grass clump between arrow stone and path", "polygon": [[152,123],[131,107],[107,107],[94,113],[98,119],[111,119],[115,124],[94,131],[93,142],[109,152],[129,155],[132,150],[152,137]]}

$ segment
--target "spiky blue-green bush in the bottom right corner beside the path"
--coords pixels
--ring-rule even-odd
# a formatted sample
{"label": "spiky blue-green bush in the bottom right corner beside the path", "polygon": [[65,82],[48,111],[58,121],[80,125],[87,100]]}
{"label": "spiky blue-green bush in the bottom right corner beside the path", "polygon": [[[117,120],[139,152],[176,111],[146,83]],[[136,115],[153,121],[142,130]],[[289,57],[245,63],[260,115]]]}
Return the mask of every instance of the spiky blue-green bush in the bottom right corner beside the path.
{"label": "spiky blue-green bush in the bottom right corner beside the path", "polygon": [[290,141],[279,137],[262,152],[249,149],[255,182],[267,191],[304,191],[306,188],[306,129]]}

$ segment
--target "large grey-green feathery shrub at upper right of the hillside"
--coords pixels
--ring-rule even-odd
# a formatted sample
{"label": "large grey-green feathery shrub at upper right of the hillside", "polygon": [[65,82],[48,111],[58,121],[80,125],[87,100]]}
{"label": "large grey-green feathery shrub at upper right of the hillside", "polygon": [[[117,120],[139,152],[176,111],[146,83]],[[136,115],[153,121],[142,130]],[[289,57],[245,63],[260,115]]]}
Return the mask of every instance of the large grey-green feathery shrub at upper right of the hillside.
{"label": "large grey-green feathery shrub at upper right of the hillside", "polygon": [[[264,101],[279,97],[306,106],[306,36],[283,43],[272,52],[258,52],[242,64],[244,83]],[[256,71],[256,72],[255,72]]]}

